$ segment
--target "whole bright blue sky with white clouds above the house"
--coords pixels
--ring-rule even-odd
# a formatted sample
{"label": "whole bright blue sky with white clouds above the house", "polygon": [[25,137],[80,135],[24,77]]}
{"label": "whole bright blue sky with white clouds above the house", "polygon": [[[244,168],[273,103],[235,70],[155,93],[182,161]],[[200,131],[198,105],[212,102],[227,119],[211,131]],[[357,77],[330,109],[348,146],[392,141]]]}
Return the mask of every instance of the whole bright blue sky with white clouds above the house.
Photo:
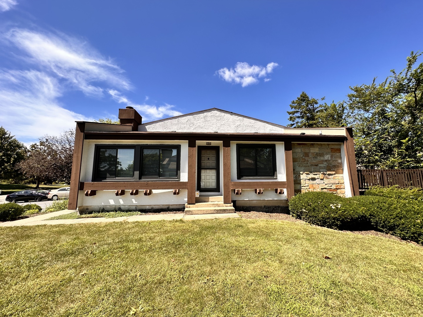
{"label": "whole bright blue sky with white clouds above the house", "polygon": [[0,125],[29,144],[75,120],[217,107],[282,125],[423,49],[423,1],[0,0]]}

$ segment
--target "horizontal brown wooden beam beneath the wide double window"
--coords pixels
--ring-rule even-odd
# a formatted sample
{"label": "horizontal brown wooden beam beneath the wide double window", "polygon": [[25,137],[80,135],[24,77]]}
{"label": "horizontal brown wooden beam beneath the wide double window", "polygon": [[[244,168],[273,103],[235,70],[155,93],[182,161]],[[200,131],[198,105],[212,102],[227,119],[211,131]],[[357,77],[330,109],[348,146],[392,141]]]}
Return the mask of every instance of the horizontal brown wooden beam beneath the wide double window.
{"label": "horizontal brown wooden beam beneath the wide double window", "polygon": [[[187,182],[80,182],[80,190],[187,189]],[[195,196],[195,193],[194,193]],[[195,197],[194,197],[195,198]]]}

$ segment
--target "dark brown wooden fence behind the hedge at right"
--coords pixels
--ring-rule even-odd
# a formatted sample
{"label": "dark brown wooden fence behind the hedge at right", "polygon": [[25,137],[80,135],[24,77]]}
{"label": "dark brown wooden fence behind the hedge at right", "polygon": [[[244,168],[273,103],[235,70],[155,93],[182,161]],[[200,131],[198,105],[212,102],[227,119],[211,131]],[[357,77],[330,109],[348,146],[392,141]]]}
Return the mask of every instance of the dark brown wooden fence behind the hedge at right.
{"label": "dark brown wooden fence behind the hedge at right", "polygon": [[369,186],[422,187],[423,169],[357,169],[358,188]]}

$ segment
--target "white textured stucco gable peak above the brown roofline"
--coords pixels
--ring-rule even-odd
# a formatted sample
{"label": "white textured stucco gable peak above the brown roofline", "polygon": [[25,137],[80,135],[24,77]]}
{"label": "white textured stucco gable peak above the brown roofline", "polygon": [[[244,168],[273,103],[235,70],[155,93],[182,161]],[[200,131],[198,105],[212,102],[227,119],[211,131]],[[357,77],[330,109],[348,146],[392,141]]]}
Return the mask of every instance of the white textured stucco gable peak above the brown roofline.
{"label": "white textured stucco gable peak above the brown roofline", "polygon": [[138,126],[138,131],[283,133],[286,126],[211,108],[176,117],[151,121]]}

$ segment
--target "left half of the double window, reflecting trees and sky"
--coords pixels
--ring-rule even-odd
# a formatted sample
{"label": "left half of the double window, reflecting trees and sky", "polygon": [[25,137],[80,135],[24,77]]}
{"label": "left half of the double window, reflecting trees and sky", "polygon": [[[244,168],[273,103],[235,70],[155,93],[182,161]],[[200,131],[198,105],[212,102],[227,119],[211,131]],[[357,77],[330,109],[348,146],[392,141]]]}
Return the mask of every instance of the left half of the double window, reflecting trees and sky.
{"label": "left half of the double window, reflecting trees and sky", "polygon": [[98,180],[133,179],[135,148],[98,147],[96,176]]}

